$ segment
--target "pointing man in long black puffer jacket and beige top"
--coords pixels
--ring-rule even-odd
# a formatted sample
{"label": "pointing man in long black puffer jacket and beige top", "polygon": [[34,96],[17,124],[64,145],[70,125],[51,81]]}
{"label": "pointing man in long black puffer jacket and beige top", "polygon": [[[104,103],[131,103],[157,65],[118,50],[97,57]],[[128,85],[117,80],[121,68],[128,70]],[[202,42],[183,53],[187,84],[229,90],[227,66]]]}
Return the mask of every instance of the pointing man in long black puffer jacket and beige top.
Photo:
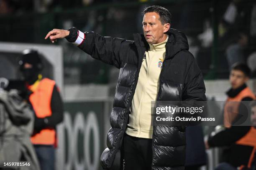
{"label": "pointing man in long black puffer jacket and beige top", "polygon": [[[152,125],[151,101],[206,100],[202,73],[188,52],[186,36],[170,28],[161,6],[143,10],[143,33],[134,41],[77,28],[54,29],[45,39],[66,38],[97,60],[120,69],[104,169],[184,169],[184,126]],[[161,74],[160,74],[161,72]]]}

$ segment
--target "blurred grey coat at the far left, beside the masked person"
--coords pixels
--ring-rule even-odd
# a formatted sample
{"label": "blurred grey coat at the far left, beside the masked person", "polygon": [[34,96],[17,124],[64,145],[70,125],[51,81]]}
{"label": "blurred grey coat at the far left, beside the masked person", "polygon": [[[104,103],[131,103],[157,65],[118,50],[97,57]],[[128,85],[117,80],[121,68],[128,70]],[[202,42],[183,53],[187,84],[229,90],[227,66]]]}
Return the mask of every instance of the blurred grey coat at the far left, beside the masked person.
{"label": "blurred grey coat at the far left, beside the masked person", "polygon": [[26,161],[19,170],[40,170],[30,141],[33,111],[16,92],[0,92],[0,167],[3,163]]}

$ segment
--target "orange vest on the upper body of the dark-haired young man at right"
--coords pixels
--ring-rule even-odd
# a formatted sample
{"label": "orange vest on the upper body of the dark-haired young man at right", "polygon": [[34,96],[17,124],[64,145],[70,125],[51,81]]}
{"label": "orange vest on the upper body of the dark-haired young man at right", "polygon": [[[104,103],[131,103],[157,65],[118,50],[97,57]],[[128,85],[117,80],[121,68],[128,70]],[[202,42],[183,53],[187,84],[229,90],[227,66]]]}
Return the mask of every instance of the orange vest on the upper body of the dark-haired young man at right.
{"label": "orange vest on the upper body of the dark-haired young man at right", "polygon": [[230,128],[233,120],[238,115],[240,102],[244,97],[251,97],[255,100],[255,95],[249,87],[244,88],[236,97],[228,97],[224,107],[224,125],[226,128]]}

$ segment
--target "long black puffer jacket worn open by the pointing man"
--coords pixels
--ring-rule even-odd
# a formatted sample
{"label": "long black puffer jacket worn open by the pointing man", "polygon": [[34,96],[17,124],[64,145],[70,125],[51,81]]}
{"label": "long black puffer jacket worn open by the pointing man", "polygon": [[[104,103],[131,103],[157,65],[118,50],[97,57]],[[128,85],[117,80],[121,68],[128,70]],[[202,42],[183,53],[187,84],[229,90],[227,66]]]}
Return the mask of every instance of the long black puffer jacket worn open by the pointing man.
{"label": "long black puffer jacket worn open by the pointing man", "polygon": [[[71,28],[67,37],[74,42],[77,29]],[[170,29],[166,43],[166,57],[160,74],[158,101],[205,100],[205,85],[195,58],[188,52],[186,36]],[[79,48],[97,60],[120,68],[115,90],[113,110],[110,115],[107,146],[101,155],[104,169],[111,167],[120,155],[123,135],[128,124],[129,108],[138,82],[138,74],[148,43],[143,35],[135,34],[134,41],[102,37],[95,32],[85,32]],[[185,164],[185,133],[183,128],[156,125],[153,129],[153,170],[183,170]],[[116,161],[116,160],[115,160]]]}

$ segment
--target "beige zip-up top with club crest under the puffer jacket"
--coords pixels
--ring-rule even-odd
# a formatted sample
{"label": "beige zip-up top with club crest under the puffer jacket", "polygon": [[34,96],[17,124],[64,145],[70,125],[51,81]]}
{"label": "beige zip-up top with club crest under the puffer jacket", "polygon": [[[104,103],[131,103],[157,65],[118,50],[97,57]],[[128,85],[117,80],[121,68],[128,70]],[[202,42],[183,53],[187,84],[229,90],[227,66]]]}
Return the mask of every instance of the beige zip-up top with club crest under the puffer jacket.
{"label": "beige zip-up top with club crest under the puffer jacket", "polygon": [[162,63],[165,57],[164,42],[159,44],[149,44],[141,65],[138,77],[138,84],[131,104],[131,114],[126,133],[138,138],[152,138],[153,126],[151,116],[151,101],[156,101],[159,90],[159,76]]}

